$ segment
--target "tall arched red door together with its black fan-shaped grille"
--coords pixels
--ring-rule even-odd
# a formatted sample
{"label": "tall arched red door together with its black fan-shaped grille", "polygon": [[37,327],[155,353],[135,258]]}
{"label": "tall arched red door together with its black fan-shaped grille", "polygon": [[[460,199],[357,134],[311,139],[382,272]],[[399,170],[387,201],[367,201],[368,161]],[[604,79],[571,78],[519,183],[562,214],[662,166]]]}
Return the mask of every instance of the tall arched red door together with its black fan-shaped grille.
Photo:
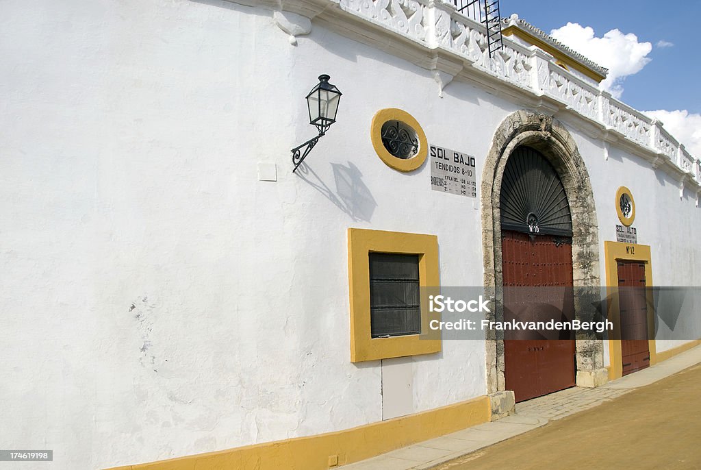
{"label": "tall arched red door together with its black fan-shaped grille", "polygon": [[[572,217],[567,194],[549,161],[521,145],[502,178],[502,283],[505,321],[574,320]],[[504,332],[505,388],[515,401],[575,385],[572,330]]]}

